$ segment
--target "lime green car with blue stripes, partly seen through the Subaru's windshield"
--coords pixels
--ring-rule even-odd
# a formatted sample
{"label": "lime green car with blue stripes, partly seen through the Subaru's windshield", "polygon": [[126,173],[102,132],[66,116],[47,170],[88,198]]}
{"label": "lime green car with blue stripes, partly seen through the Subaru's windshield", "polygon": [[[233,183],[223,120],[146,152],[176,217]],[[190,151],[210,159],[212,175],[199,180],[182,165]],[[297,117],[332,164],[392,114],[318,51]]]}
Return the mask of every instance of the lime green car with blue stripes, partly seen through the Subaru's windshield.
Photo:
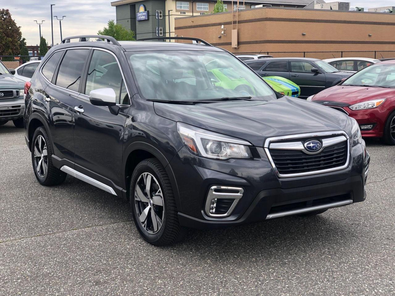
{"label": "lime green car with blue stripes, partly seen through the Subaru's windshield", "polygon": [[[208,73],[210,75],[211,82],[213,82],[215,86],[233,89],[238,92],[244,91],[250,95],[255,94],[254,87],[231,68],[209,69]],[[300,87],[286,78],[268,76],[264,77],[263,80],[266,81],[273,90],[280,94],[290,97],[299,97],[300,95]]]}

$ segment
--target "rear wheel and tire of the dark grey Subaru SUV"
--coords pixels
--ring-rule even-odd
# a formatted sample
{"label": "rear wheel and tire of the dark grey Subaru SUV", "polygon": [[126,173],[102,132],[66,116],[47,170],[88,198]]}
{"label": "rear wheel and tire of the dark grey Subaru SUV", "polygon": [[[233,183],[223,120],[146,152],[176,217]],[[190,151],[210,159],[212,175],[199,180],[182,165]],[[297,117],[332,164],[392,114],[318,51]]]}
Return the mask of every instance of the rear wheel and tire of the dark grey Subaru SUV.
{"label": "rear wheel and tire of the dark grey Subaru SUV", "polygon": [[59,185],[67,174],[52,164],[53,148],[43,126],[34,131],[32,140],[32,165],[38,182],[44,186]]}

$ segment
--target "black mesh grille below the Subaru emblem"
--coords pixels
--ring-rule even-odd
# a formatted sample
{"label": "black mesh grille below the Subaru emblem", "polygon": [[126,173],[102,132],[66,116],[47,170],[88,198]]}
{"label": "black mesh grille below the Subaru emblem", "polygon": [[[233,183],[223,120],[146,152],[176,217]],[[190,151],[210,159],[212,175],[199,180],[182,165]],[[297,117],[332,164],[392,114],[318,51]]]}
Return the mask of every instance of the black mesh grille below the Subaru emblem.
{"label": "black mesh grille below the Subaru emblem", "polygon": [[347,161],[348,146],[347,141],[343,141],[313,155],[300,150],[269,149],[269,152],[278,173],[299,174],[342,167]]}

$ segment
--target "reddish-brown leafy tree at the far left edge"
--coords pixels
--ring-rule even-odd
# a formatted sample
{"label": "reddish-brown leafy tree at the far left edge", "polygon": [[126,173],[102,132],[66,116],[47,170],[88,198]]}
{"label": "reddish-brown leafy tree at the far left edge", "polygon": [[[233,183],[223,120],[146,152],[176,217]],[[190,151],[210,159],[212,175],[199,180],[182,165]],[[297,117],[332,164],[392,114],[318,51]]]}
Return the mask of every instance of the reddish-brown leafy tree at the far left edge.
{"label": "reddish-brown leafy tree at the far left edge", "polygon": [[[11,18],[8,9],[0,9],[0,55],[19,55],[19,40],[22,38],[21,27]],[[3,58],[3,60],[14,60]]]}

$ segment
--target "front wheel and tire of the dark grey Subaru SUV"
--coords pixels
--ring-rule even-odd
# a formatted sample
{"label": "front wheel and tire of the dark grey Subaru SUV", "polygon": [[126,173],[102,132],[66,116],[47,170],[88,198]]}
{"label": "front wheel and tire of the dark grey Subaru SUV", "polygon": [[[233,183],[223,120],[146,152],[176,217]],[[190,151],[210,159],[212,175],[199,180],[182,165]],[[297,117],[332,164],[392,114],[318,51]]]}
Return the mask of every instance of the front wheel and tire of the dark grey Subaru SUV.
{"label": "front wheel and tire of the dark grey Subaru SUV", "polygon": [[163,246],[182,239],[186,229],[179,224],[169,176],[158,159],[145,159],[135,167],[129,200],[137,230],[147,242]]}

